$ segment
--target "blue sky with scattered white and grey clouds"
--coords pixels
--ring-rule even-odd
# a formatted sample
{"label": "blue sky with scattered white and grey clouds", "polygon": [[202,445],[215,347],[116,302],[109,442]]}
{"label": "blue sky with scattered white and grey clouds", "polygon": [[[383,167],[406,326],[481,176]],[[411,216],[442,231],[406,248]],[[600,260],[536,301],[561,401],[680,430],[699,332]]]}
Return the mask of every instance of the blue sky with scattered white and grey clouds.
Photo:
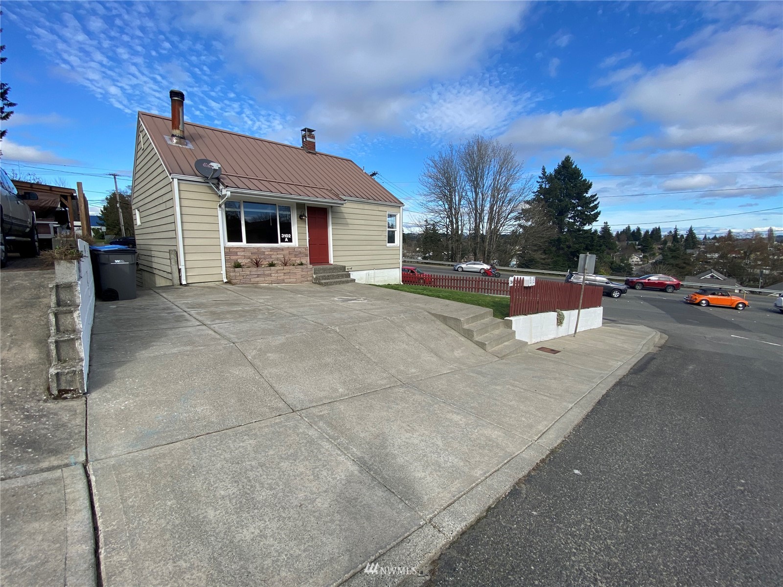
{"label": "blue sky with scattered white and grey clouds", "polygon": [[81,181],[94,204],[114,187],[106,173],[130,183],[137,110],[168,115],[179,88],[189,121],[292,144],[315,128],[319,150],[379,171],[410,221],[424,160],[481,134],[514,145],[532,175],[570,154],[599,225],[783,233],[781,2],[2,11],[2,80],[18,103],[2,165]]}

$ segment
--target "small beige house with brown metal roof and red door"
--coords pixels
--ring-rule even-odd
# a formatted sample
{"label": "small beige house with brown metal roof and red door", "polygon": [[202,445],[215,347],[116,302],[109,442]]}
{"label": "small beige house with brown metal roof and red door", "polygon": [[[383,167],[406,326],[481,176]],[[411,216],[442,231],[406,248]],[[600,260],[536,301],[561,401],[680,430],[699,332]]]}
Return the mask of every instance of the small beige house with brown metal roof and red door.
{"label": "small beige house with brown metal roof and red door", "polygon": [[[403,203],[352,160],[139,112],[132,210],[141,286],[312,283],[344,265],[359,283],[400,283]],[[271,265],[276,266],[271,266]]]}

